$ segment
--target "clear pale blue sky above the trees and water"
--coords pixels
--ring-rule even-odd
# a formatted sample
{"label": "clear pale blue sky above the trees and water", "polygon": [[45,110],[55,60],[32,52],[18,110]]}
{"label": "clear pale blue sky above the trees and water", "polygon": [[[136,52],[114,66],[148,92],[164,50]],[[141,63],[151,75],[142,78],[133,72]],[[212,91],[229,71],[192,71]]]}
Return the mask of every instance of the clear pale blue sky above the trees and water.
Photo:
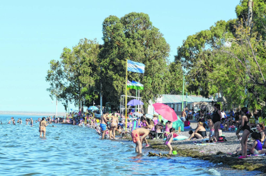
{"label": "clear pale blue sky above the trees and water", "polygon": [[[144,12],[170,44],[169,60],[187,36],[236,18],[240,0],[4,0],[0,6],[0,110],[55,111],[45,81],[49,61],[79,39],[97,38],[102,22]],[[74,106],[71,106],[74,108]],[[59,103],[58,111],[64,107]]]}

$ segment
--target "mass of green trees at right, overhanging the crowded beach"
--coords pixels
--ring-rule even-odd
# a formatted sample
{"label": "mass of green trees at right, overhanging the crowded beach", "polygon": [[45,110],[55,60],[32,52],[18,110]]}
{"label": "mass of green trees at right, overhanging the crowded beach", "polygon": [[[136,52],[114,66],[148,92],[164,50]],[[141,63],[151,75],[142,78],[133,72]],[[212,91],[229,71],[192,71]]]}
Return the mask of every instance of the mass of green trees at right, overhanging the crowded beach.
{"label": "mass of green trees at right, overhanging the crowded beach", "polygon": [[[266,1],[253,2],[251,27],[247,25],[248,0],[241,0],[236,19],[218,21],[188,36],[177,48],[175,63],[186,66],[188,91],[203,96],[220,92],[227,108],[265,107]],[[227,41],[231,47],[224,46]]]}

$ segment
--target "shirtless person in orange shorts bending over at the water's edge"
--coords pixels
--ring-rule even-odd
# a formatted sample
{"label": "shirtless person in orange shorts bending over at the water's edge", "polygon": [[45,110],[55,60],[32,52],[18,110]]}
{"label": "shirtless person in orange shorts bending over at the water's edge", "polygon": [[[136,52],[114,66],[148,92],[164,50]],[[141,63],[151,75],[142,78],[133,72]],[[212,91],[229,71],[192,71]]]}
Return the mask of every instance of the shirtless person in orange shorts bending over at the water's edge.
{"label": "shirtless person in orange shorts bending over at the water's edge", "polygon": [[[142,153],[143,139],[145,139],[147,135],[153,138],[156,136],[156,132],[149,131],[145,128],[138,128],[136,130],[133,130],[131,133],[132,140],[136,144],[136,152],[139,154]],[[140,136],[142,137],[140,138]]]}

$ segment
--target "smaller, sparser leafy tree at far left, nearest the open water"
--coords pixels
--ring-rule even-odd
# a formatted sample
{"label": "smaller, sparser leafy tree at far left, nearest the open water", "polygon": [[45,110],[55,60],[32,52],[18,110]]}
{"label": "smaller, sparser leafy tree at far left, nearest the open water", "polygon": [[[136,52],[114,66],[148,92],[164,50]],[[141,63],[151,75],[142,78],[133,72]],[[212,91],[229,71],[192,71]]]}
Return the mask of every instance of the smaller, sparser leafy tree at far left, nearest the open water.
{"label": "smaller, sparser leafy tree at far left, nearest the open water", "polygon": [[[95,97],[94,86],[98,79],[99,44],[96,40],[81,39],[70,48],[65,47],[60,61],[51,60],[46,81],[49,82],[50,96],[56,96],[62,101],[65,110],[68,103],[83,110],[84,101],[91,102]],[[58,91],[60,90],[60,91]]]}

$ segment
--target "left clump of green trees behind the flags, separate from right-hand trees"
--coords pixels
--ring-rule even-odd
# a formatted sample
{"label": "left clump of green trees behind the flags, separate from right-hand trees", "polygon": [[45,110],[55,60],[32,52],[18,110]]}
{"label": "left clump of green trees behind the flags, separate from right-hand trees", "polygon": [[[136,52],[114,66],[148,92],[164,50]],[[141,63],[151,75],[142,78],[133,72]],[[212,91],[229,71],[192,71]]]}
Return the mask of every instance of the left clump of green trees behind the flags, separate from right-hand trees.
{"label": "left clump of green trees behind the flags, separate from right-hand trees", "polygon": [[[72,49],[64,48],[60,60],[51,60],[46,81],[51,97],[77,107],[99,104],[102,90],[103,106],[111,102],[120,106],[125,93],[126,59],[145,64],[145,73],[130,72],[128,80],[144,85],[140,94],[147,106],[160,94],[180,93],[181,64],[168,60],[170,46],[158,28],[144,13],[129,13],[119,19],[107,17],[102,23],[102,40],[81,39]],[[102,85],[102,88],[101,88]],[[136,96],[136,90],[129,90]]]}

